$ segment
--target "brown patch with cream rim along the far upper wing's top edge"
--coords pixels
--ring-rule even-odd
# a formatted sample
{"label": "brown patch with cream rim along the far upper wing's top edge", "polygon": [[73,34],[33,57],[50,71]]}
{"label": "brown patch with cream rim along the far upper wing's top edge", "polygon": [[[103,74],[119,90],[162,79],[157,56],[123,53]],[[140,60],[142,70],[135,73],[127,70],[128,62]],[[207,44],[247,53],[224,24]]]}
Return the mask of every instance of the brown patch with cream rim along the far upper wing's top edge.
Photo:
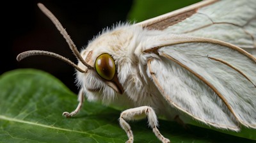
{"label": "brown patch with cream rim along the far upper wing's top edge", "polygon": [[139,22],[136,25],[144,27],[146,29],[163,30],[169,26],[181,22],[184,19],[187,19],[188,17],[191,17],[191,15],[196,13],[198,8],[202,8],[209,4],[216,3],[217,1],[219,0],[200,1],[199,3],[191,4],[190,6],[180,8],[179,10],[175,10],[170,13],[160,15],[158,17],[154,17],[143,22]]}

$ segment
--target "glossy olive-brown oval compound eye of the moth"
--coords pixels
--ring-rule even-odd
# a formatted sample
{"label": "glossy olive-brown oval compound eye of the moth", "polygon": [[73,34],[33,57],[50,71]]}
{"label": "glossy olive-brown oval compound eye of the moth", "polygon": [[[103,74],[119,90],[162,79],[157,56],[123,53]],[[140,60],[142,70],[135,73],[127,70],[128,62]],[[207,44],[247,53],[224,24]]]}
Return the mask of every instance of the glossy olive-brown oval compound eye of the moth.
{"label": "glossy olive-brown oval compound eye of the moth", "polygon": [[101,54],[95,61],[95,69],[100,77],[111,80],[116,72],[115,61],[109,54]]}

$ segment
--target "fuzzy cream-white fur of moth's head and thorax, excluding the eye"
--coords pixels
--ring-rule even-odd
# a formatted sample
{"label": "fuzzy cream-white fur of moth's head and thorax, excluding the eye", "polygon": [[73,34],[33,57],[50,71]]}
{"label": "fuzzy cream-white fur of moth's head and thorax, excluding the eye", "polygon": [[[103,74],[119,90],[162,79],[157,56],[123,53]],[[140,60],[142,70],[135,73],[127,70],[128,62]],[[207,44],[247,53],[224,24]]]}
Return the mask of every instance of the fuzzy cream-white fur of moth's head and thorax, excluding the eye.
{"label": "fuzzy cream-white fur of moth's head and thorax, excluding the eye", "polygon": [[[159,96],[160,93],[156,86],[146,75],[147,60],[141,56],[145,47],[163,44],[161,41],[154,42],[154,40],[161,39],[159,35],[163,35],[163,32],[147,31],[140,26],[129,24],[118,24],[115,28],[104,31],[91,41],[81,55],[86,59],[86,53],[92,50],[90,60],[94,63],[100,54],[111,54],[115,60],[118,80],[124,87],[124,94],[116,93],[93,70],[89,70],[88,73],[77,72],[77,82],[84,88],[88,100],[116,103],[129,98],[129,101],[123,101],[129,104],[129,107],[149,105],[158,109],[159,105],[164,105],[163,97]],[[156,57],[155,54],[152,56]],[[78,66],[86,69],[81,62]],[[91,92],[87,89],[100,89],[100,92]]]}

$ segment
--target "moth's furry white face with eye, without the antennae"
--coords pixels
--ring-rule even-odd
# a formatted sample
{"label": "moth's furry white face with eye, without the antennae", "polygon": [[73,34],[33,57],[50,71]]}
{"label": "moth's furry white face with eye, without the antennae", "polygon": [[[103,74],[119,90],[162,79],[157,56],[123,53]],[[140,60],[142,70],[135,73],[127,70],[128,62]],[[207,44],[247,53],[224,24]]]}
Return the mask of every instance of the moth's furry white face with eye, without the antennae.
{"label": "moth's furry white face with eye, without the antennae", "polygon": [[77,64],[85,71],[77,70],[77,84],[84,89],[88,100],[111,101],[116,93],[124,93],[117,78],[115,59],[111,54],[83,50],[81,56],[86,63],[92,66],[88,69],[81,61]]}

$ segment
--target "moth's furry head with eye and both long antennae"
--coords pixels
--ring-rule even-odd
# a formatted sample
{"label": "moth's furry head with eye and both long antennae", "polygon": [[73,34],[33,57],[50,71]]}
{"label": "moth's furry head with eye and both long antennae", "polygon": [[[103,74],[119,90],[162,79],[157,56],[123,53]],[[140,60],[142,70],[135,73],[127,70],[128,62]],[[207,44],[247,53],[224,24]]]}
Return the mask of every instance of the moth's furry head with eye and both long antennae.
{"label": "moth's furry head with eye and both long antennae", "polygon": [[116,93],[122,94],[124,90],[117,78],[116,64],[113,56],[108,52],[104,52],[104,50],[101,51],[100,48],[93,49],[93,45],[80,53],[67,31],[65,31],[51,11],[40,3],[38,3],[38,7],[45,13],[45,15],[47,15],[47,17],[49,17],[49,19],[52,20],[54,25],[63,35],[79,63],[74,64],[66,57],[44,50],[29,50],[22,52],[17,56],[17,61],[36,55],[52,56],[65,61],[76,68],[77,83],[79,86],[83,87],[86,93],[88,93],[86,94],[86,96],[88,96],[88,100],[104,100],[106,98],[109,100],[113,98]]}

